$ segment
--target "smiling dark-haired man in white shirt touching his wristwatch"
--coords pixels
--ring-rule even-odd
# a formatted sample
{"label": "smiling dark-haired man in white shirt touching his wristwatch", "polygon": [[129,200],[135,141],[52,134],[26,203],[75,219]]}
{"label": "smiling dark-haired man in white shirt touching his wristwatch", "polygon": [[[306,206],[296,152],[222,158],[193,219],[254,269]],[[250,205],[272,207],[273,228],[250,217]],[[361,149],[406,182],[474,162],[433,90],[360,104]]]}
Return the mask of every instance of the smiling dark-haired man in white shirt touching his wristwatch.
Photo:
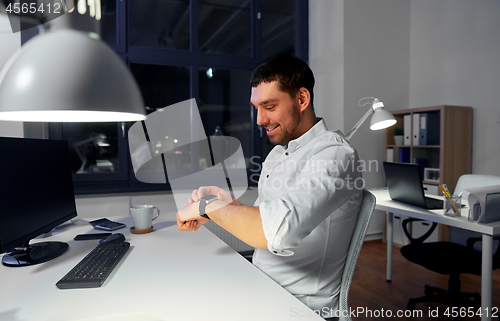
{"label": "smiling dark-haired man in white shirt touching his wristwatch", "polygon": [[200,198],[216,195],[206,205],[208,217],[255,247],[253,263],[264,273],[311,309],[330,313],[338,307],[362,198],[354,186],[361,179],[357,152],[316,117],[314,75],[302,60],[271,57],[254,71],[251,86],[257,124],[276,144],[263,164],[255,205],[201,187],[177,214],[177,225],[197,230],[208,221],[199,215]]}

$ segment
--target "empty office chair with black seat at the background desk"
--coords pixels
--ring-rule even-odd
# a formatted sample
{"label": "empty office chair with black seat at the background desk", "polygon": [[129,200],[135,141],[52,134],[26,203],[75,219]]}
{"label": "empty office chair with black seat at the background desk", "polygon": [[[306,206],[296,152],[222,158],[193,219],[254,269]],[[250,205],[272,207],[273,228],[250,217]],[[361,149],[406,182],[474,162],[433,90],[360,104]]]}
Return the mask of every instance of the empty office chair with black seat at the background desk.
{"label": "empty office chair with black seat at the background desk", "polygon": [[[467,202],[469,193],[464,189],[499,184],[500,177],[497,176],[466,174],[460,176],[454,194],[463,193],[462,199]],[[449,227],[449,242],[424,243],[436,228],[437,223],[433,223],[424,235],[415,239],[408,232],[408,224],[418,220],[409,218],[403,221],[403,231],[410,240],[410,244],[401,248],[401,254],[415,264],[436,273],[450,275],[450,278],[447,290],[425,285],[425,296],[409,299],[407,308],[413,310],[416,304],[421,302],[444,303],[452,307],[481,307],[478,292],[460,291],[460,274],[481,275],[480,234]],[[494,237],[494,240],[498,239],[499,237]],[[497,247],[496,250],[494,249],[493,269],[498,268],[500,268],[500,251]]]}

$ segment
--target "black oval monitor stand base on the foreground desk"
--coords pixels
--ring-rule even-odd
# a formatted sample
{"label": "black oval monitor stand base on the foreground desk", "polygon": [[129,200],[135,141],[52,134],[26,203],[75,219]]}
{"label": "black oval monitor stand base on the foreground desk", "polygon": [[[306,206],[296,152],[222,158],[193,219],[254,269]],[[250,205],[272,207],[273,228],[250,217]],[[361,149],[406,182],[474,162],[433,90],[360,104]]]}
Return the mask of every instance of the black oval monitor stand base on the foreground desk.
{"label": "black oval monitor stand base on the foreground desk", "polygon": [[69,248],[64,242],[41,242],[28,244],[23,249],[5,253],[2,264],[10,267],[35,265],[50,261],[64,254]]}

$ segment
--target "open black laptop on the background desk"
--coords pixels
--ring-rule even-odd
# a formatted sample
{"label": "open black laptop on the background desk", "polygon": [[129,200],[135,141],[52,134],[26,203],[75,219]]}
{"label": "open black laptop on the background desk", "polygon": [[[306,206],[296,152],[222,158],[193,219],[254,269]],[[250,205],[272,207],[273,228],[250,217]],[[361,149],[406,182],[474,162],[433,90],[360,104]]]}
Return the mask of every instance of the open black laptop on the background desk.
{"label": "open black laptop on the background desk", "polygon": [[442,209],[443,201],[424,194],[417,164],[384,162],[387,189],[392,200],[429,210]]}

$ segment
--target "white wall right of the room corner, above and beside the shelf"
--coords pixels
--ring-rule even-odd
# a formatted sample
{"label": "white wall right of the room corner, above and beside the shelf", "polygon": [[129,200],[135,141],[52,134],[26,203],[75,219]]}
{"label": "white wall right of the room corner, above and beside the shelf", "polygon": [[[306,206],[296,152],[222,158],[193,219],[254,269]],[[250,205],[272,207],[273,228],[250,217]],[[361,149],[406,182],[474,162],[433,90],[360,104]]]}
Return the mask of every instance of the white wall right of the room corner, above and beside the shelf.
{"label": "white wall right of the room corner, above and beside the shelf", "polygon": [[500,2],[411,2],[410,107],[472,106],[472,173],[500,176]]}

